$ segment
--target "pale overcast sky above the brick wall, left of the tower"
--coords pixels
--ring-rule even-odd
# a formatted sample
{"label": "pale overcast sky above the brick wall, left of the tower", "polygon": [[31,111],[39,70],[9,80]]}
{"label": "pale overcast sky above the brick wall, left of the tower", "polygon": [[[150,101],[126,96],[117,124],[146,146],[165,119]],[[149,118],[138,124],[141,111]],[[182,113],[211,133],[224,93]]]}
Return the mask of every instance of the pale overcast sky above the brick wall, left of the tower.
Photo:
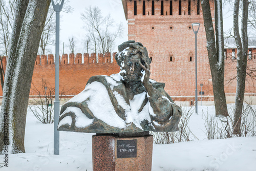
{"label": "pale overcast sky above the brick wall, left of the tower", "polygon": [[[69,37],[72,36],[74,36],[76,40],[77,48],[75,49],[75,53],[85,52],[82,41],[86,35],[86,30],[84,29],[85,24],[81,19],[81,13],[89,6],[98,6],[103,15],[108,15],[110,13],[117,23],[123,23],[123,36],[117,39],[114,51],[117,51],[117,45],[128,39],[127,21],[125,20],[121,0],[70,0],[69,5],[73,8],[73,12],[60,12],[60,54],[62,54],[63,51],[63,42],[65,42],[65,53],[70,53],[68,45]],[[233,24],[232,14],[233,12],[230,11],[229,6],[225,5],[225,8],[223,9],[224,32]],[[204,29],[203,27],[201,28]],[[52,48],[51,53],[55,53],[54,47]]]}

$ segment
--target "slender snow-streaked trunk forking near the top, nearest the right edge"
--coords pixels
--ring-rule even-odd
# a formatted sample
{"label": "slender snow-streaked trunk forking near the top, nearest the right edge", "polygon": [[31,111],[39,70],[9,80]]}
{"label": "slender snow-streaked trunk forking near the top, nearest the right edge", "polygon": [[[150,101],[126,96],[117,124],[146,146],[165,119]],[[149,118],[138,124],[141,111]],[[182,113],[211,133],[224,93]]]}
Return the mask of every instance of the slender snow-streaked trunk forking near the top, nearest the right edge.
{"label": "slender snow-streaked trunk forking near the top, nearest the right edge", "polygon": [[248,22],[248,0],[243,0],[242,5],[242,40],[239,34],[239,5],[240,0],[234,2],[234,37],[237,45],[237,90],[236,101],[234,103],[234,134],[241,134],[241,115],[243,110],[246,66],[247,66],[247,52],[248,52],[248,36],[247,36],[247,22]]}

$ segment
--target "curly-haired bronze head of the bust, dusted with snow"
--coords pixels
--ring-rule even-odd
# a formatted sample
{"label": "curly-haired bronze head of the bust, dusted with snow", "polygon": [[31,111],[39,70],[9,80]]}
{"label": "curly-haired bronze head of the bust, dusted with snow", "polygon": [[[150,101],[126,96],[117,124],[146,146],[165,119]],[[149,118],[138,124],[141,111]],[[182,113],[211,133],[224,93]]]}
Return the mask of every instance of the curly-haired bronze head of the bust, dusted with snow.
{"label": "curly-haired bronze head of the bust, dusted with snow", "polygon": [[148,64],[151,63],[146,48],[143,47],[140,42],[130,40],[119,45],[118,51],[119,52],[115,55],[115,59],[121,71],[123,71],[121,73],[123,78],[129,81],[141,80],[143,69],[139,62],[142,63],[142,65],[145,65],[145,62]]}

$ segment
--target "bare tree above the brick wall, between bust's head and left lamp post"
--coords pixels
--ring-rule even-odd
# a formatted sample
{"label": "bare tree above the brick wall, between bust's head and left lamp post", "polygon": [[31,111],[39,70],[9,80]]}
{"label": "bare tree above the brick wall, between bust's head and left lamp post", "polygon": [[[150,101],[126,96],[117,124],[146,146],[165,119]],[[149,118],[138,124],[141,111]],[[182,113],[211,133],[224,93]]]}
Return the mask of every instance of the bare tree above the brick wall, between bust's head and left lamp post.
{"label": "bare tree above the brick wall, between bust's head and left lamp post", "polygon": [[100,53],[110,52],[115,39],[123,32],[122,23],[116,24],[110,14],[103,17],[98,7],[90,6],[81,14],[81,17],[87,24],[86,30],[94,43],[95,53],[97,50]]}

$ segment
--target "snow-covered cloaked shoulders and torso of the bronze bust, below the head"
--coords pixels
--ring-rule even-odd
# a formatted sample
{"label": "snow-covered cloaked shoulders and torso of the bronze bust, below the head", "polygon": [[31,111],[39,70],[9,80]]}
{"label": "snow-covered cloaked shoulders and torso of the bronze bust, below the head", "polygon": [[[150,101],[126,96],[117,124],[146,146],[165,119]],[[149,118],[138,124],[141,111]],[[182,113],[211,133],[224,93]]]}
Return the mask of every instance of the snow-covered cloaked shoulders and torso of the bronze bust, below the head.
{"label": "snow-covered cloaked shoulders and torso of the bronze bust, below the head", "polygon": [[62,105],[58,130],[84,133],[177,131],[181,109],[164,91],[164,83],[150,79],[157,93],[149,97],[142,85],[139,91],[142,93],[130,100],[120,73],[91,77],[81,93]]}

